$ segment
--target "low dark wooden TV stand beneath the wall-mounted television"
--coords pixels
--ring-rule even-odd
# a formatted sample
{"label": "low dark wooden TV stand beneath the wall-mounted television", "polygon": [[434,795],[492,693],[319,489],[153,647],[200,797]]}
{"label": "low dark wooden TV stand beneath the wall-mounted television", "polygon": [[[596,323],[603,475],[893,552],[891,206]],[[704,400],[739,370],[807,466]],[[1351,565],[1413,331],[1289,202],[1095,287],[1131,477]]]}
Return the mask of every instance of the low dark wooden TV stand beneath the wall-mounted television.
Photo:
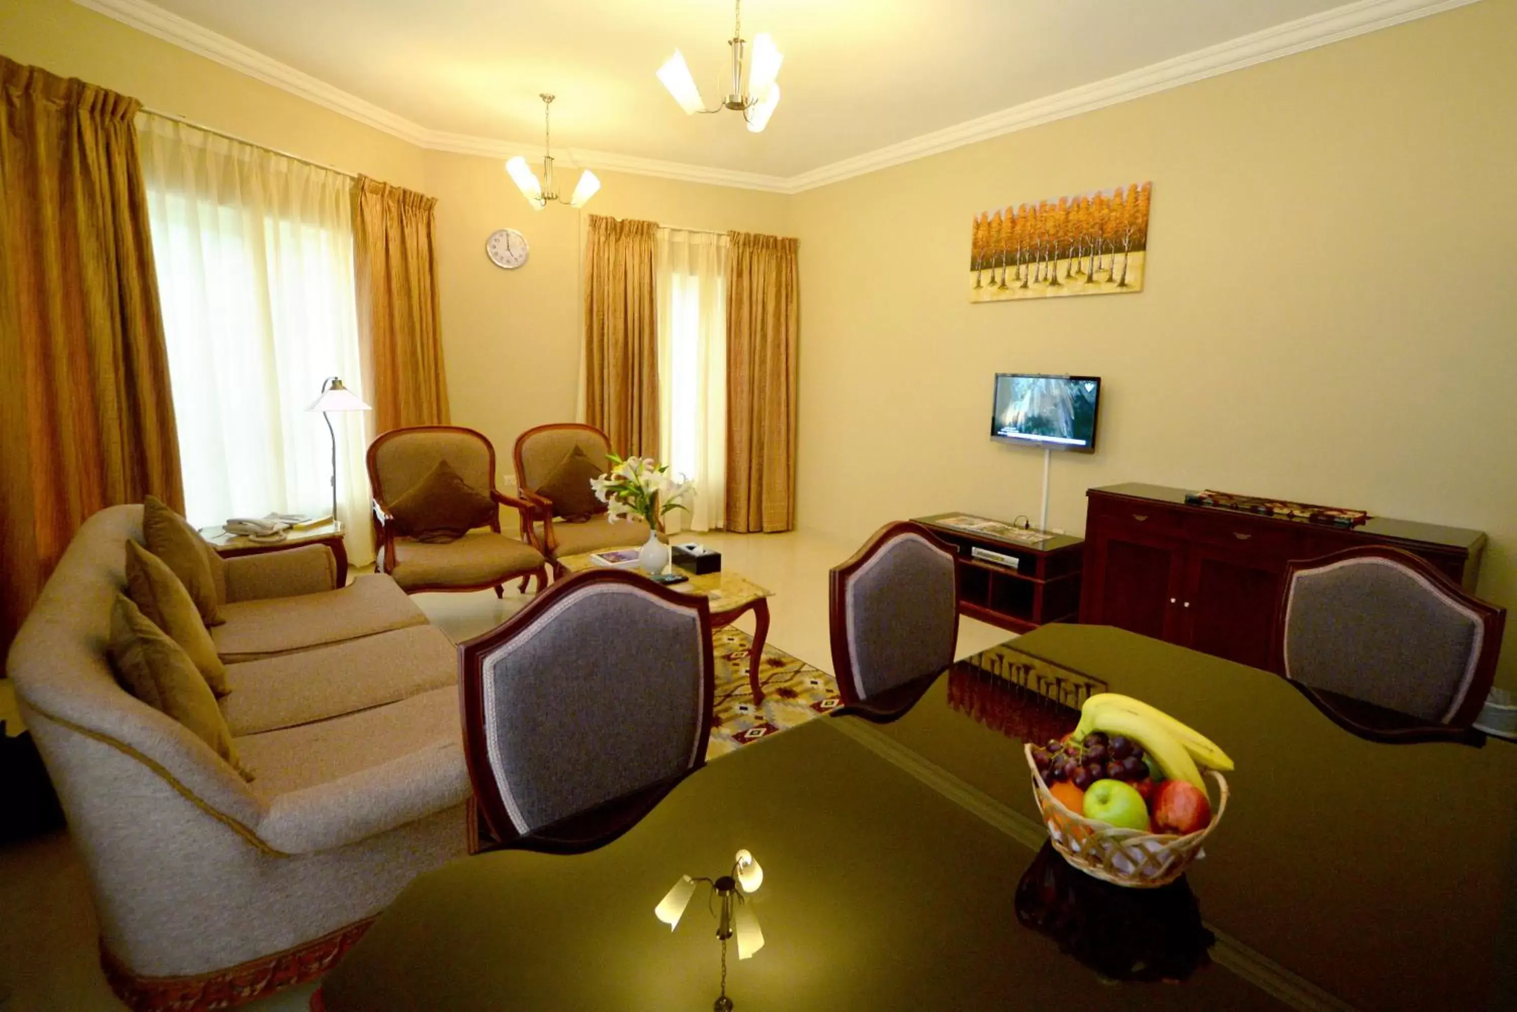
{"label": "low dark wooden TV stand beneath the wall-mounted television", "polygon": [[[1019,534],[1001,537],[994,530],[959,523],[965,519],[1012,526],[972,513],[938,513],[916,519],[948,542],[957,555],[959,614],[1013,633],[1074,621],[1080,610],[1083,539],[1047,534],[1039,543],[1022,543],[1016,540]],[[975,548],[992,557],[975,557]]]}

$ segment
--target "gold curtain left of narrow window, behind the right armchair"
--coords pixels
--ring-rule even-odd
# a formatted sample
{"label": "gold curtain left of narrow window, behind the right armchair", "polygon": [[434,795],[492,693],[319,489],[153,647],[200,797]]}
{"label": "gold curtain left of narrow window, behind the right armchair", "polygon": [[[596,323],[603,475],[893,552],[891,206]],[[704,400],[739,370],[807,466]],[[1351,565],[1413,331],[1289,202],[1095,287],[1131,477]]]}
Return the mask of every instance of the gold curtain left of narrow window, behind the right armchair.
{"label": "gold curtain left of narrow window, behind the right armchair", "polygon": [[590,215],[584,413],[623,457],[658,454],[658,225]]}

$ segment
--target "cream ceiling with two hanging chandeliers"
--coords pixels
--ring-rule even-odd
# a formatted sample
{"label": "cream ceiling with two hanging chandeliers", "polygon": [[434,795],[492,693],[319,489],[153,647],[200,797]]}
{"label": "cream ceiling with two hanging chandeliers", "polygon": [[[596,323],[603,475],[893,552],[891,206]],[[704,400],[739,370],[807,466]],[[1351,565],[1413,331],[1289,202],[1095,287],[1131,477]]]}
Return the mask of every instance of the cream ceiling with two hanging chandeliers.
{"label": "cream ceiling with two hanging chandeliers", "polygon": [[[743,35],[769,32],[786,58],[783,100],[755,135],[734,114],[686,117],[654,77],[678,47],[713,102],[728,0],[156,3],[425,130],[537,141],[537,93],[552,91],[555,147],[778,178],[1340,6],[748,0]],[[1387,3],[1409,6],[1353,6]]]}

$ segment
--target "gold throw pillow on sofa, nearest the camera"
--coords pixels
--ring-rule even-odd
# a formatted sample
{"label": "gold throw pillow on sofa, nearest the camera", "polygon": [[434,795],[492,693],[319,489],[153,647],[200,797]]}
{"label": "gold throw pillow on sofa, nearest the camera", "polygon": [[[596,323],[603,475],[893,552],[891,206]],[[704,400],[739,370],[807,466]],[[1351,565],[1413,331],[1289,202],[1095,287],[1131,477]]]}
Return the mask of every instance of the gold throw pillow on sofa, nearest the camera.
{"label": "gold throw pillow on sofa, nearest the camera", "polygon": [[179,721],[243,780],[253,778],[238,762],[226,718],[190,655],[123,593],[111,608],[111,660],[127,692]]}

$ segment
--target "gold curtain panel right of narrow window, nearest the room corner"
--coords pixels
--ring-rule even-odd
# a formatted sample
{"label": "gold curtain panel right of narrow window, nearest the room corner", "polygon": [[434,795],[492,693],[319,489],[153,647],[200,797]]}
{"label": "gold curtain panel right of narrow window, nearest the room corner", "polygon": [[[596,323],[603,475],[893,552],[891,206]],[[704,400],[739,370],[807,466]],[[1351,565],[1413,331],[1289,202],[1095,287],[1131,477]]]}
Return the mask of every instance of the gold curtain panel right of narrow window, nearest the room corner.
{"label": "gold curtain panel right of narrow window, nearest the room corner", "polygon": [[727,530],[795,526],[796,240],[728,232]]}

